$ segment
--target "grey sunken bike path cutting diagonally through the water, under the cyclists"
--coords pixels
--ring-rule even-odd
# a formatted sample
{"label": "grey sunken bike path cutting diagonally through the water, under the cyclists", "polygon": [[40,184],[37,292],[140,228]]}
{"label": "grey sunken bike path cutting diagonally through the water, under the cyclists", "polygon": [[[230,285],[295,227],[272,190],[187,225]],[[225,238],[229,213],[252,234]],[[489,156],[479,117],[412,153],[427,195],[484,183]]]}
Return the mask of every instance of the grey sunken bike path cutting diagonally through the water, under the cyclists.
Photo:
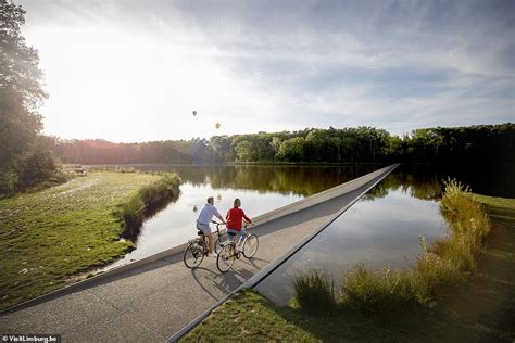
{"label": "grey sunken bike path cutting diagonally through the water, under the cyclists", "polygon": [[178,253],[2,315],[0,334],[61,334],[63,342],[165,341],[313,233],[386,174],[348,193],[256,225],[253,232],[260,238],[258,253],[251,259],[235,261],[225,274],[218,271],[213,257],[205,257],[197,269],[188,269],[183,253]]}

